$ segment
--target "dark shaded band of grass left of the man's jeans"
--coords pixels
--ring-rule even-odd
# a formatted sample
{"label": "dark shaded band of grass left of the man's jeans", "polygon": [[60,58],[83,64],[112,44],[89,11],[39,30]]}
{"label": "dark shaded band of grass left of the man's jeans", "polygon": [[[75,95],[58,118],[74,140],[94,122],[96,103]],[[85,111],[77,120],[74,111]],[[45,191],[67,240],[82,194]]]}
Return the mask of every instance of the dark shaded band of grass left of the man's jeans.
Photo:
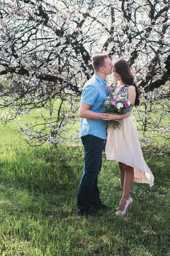
{"label": "dark shaded band of grass left of the man's jeans", "polygon": [[13,155],[1,155],[0,179],[11,185],[47,192],[75,188],[83,169],[82,148],[31,148],[16,149]]}

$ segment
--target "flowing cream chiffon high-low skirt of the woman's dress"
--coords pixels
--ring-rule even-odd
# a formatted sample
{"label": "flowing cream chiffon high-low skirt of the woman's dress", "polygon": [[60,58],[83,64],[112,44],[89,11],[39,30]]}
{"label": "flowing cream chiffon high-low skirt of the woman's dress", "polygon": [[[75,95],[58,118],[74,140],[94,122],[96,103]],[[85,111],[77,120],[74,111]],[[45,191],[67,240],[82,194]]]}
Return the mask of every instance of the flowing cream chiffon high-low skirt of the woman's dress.
{"label": "flowing cream chiffon high-low skirt of the woman's dress", "polygon": [[120,119],[121,128],[108,128],[107,160],[116,160],[134,168],[134,181],[153,186],[154,176],[144,161],[138,132],[131,117]]}

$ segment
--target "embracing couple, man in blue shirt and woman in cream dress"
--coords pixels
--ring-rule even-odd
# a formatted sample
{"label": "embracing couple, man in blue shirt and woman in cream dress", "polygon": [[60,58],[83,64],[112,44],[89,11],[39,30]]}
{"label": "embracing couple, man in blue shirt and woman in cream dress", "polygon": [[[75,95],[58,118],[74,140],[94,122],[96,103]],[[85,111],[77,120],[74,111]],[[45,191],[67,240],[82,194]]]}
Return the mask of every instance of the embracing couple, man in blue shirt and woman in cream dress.
{"label": "embracing couple, man in blue shirt and woman in cream dress", "polygon": [[[95,55],[92,59],[94,75],[82,90],[79,109],[80,137],[85,150],[85,169],[79,185],[77,204],[79,215],[94,215],[99,209],[109,210],[100,200],[98,175],[102,166],[102,150],[106,140],[107,121],[119,121],[120,129],[108,127],[105,147],[108,160],[116,160],[120,169],[122,198],[115,209],[116,215],[126,215],[133,203],[130,189],[133,181],[153,186],[153,174],[144,161],[136,126],[130,113],[101,113],[103,101],[108,95],[127,97],[131,109],[139,105],[139,90],[134,82],[128,63],[120,59],[112,64],[106,54]],[[106,84],[106,77],[113,72],[116,82]]]}

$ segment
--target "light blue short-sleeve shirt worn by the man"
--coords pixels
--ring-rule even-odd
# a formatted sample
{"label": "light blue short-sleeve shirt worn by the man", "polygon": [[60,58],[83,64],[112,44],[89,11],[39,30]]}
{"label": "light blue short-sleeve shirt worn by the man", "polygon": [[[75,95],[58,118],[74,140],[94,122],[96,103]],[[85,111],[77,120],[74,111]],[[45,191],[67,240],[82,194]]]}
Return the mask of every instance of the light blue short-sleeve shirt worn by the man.
{"label": "light blue short-sleeve shirt worn by the man", "polygon": [[[106,80],[101,79],[96,73],[87,81],[83,90],[81,102],[91,105],[90,110],[96,113],[102,111],[103,100],[108,96]],[[81,118],[80,137],[92,134],[96,137],[106,139],[107,121],[102,119],[91,120]]]}

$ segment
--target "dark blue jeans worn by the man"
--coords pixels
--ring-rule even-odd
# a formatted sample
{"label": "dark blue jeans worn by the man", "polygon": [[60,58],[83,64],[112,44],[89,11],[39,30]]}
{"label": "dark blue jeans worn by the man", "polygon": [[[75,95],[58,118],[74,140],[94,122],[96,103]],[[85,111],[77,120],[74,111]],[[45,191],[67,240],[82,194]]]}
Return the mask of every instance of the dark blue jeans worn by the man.
{"label": "dark blue jeans worn by the man", "polygon": [[85,149],[85,169],[79,185],[77,206],[80,213],[85,213],[91,211],[92,207],[98,209],[102,204],[97,183],[104,140],[91,134],[81,139]]}

